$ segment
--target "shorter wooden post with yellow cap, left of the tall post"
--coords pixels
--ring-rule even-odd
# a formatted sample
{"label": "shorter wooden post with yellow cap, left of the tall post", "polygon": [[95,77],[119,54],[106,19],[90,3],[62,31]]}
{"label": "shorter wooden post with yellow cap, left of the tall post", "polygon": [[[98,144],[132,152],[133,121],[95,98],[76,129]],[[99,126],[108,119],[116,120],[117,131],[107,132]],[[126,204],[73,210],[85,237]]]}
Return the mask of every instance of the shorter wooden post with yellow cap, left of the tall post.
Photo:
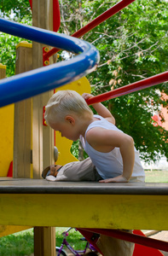
{"label": "shorter wooden post with yellow cap, left of the tall post", "polygon": [[[15,73],[32,69],[32,44],[16,46]],[[13,177],[31,177],[32,98],[14,104],[14,172]]]}

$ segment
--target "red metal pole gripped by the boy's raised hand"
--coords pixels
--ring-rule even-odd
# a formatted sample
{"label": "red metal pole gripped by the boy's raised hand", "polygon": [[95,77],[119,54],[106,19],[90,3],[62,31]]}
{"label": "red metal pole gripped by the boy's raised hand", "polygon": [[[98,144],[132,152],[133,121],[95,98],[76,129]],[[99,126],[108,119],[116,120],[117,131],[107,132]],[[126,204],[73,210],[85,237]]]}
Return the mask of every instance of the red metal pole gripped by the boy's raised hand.
{"label": "red metal pole gripped by the boy's raised hand", "polygon": [[86,102],[88,103],[88,105],[92,105],[98,102],[105,102],[107,100],[132,93],[136,90],[142,90],[156,84],[164,83],[166,81],[168,81],[168,71],[165,71],[164,73],[159,73],[148,79],[137,81],[133,84],[125,85],[115,90],[107,91],[105,93],[102,93],[101,95],[90,98]]}

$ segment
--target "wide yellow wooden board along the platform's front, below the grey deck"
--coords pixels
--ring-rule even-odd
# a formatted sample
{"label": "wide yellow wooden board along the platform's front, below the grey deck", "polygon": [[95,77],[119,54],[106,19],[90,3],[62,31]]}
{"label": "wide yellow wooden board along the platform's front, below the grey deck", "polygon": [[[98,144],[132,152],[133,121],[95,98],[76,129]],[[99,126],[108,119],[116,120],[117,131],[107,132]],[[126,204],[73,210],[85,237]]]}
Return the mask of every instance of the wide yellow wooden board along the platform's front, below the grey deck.
{"label": "wide yellow wooden board along the platform's front, below the grey deck", "polygon": [[0,195],[0,224],[168,230],[167,195]]}

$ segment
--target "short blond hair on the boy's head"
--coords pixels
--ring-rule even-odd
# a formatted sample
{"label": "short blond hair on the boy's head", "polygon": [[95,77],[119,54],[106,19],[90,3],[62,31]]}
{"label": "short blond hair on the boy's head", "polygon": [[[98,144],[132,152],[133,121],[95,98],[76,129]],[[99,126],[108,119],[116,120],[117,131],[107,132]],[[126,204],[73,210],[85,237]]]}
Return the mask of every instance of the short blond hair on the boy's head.
{"label": "short blond hair on the boy's head", "polygon": [[63,121],[67,115],[75,113],[78,117],[84,117],[85,114],[89,117],[93,113],[84,98],[75,90],[58,90],[47,103],[45,107],[44,119],[46,123],[55,124],[55,122]]}

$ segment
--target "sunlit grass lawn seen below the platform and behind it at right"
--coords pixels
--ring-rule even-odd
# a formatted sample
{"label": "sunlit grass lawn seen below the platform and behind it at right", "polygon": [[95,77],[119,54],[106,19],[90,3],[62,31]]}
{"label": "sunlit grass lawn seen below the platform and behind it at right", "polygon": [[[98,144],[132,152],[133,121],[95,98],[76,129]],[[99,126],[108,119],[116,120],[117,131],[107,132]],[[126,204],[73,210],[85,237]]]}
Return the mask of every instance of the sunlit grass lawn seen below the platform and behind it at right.
{"label": "sunlit grass lawn seen below the platform and behind it at right", "polygon": [[[146,183],[168,183],[168,171],[146,171]],[[61,246],[61,233],[67,228],[56,228],[56,245]],[[80,241],[81,234],[71,230],[67,241],[75,248],[84,247]],[[26,256],[33,253],[33,229],[21,231],[14,235],[0,237],[0,256]]]}

